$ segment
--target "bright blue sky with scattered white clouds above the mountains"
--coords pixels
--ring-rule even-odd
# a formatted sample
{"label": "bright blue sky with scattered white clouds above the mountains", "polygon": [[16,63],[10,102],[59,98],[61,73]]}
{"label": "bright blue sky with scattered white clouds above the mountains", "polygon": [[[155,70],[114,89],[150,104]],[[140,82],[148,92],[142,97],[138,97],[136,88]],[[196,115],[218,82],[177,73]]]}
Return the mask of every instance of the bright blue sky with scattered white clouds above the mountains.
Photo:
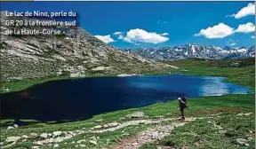
{"label": "bright blue sky with scattered white clouds above the mountains", "polygon": [[255,2],[1,2],[1,11],[73,11],[79,25],[118,48],[255,44]]}

